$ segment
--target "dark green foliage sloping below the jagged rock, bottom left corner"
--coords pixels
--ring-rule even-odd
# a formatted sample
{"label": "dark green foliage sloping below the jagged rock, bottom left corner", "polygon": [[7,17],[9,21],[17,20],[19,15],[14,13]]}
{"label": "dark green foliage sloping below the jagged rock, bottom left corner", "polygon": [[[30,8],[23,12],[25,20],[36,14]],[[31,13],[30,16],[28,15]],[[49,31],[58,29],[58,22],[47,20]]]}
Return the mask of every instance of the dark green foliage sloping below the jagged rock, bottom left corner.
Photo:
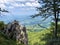
{"label": "dark green foliage sloping below the jagged rock, bottom left corner", "polygon": [[[4,35],[4,33],[0,32],[0,45],[17,45],[18,42],[16,40],[7,38],[7,36]],[[18,44],[23,45],[23,44]]]}

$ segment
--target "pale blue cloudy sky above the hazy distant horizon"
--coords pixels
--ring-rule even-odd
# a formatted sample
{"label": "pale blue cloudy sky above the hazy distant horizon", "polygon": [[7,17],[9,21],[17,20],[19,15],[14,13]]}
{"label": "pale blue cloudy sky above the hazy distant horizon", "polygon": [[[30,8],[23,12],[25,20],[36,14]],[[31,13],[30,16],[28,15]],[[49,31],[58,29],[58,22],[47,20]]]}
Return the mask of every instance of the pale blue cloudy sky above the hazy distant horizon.
{"label": "pale blue cloudy sky above the hazy distant horizon", "polygon": [[0,7],[7,9],[12,15],[31,15],[36,13],[38,0],[0,0]]}

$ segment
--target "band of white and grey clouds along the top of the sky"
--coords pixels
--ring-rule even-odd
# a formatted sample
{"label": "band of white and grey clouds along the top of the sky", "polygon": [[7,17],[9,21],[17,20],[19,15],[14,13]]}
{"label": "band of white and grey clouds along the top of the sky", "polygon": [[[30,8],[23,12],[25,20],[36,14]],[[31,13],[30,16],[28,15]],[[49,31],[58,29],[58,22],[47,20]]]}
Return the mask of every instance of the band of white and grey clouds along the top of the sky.
{"label": "band of white and grey clouds along the top of the sky", "polygon": [[0,7],[8,8],[8,6],[6,6],[5,4],[7,4],[9,8],[40,6],[40,4],[38,3],[38,0],[0,0],[0,5],[1,5]]}

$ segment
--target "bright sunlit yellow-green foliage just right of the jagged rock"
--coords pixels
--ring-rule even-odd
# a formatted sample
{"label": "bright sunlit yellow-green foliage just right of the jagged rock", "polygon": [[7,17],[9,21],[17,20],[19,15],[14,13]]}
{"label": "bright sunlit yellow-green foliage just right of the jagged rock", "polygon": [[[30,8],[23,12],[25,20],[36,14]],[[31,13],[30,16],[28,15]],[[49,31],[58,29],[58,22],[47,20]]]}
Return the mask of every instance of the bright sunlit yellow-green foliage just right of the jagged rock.
{"label": "bright sunlit yellow-green foliage just right of the jagged rock", "polygon": [[45,45],[46,41],[42,38],[50,33],[49,30],[43,30],[40,32],[28,32],[29,45]]}

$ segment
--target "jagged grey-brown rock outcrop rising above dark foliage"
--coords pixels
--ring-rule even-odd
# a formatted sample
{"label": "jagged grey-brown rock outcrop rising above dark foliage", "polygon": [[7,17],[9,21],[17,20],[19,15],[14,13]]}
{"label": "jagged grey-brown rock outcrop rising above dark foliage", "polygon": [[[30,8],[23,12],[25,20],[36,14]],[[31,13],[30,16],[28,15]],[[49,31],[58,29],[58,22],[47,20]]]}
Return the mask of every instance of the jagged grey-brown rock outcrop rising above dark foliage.
{"label": "jagged grey-brown rock outcrop rising above dark foliage", "polygon": [[4,33],[7,37],[28,45],[26,27],[19,25],[18,21],[14,20],[12,23],[8,23],[4,28]]}

